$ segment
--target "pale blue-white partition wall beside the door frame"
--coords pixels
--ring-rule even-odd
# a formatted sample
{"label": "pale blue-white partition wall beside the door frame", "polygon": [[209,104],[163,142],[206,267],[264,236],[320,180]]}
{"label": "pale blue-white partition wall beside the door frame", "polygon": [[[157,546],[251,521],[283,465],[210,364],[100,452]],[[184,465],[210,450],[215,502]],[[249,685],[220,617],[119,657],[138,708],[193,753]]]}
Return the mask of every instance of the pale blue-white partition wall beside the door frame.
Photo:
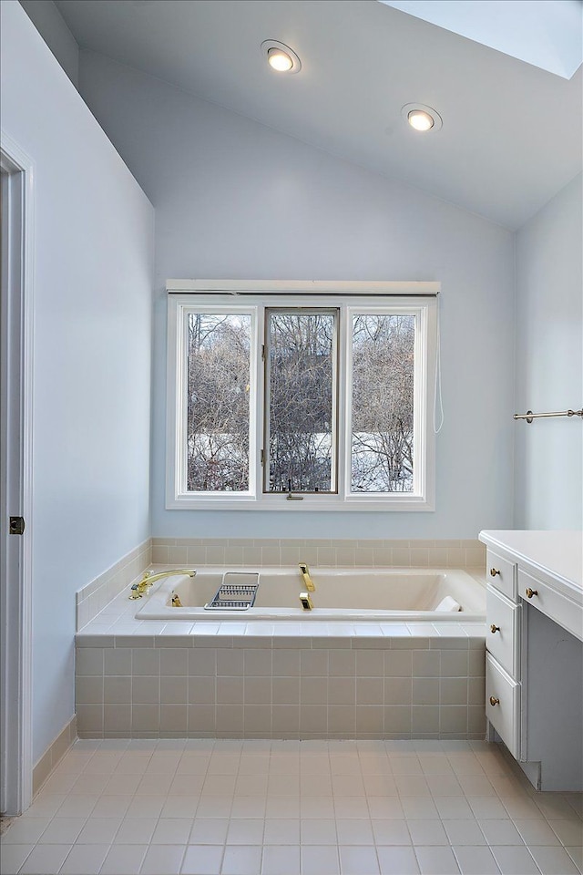
{"label": "pale blue-white partition wall beside the door frame", "polygon": [[153,211],[22,7],[1,7],[2,126],[36,165],[37,759],[74,713],[75,592],[149,534]]}

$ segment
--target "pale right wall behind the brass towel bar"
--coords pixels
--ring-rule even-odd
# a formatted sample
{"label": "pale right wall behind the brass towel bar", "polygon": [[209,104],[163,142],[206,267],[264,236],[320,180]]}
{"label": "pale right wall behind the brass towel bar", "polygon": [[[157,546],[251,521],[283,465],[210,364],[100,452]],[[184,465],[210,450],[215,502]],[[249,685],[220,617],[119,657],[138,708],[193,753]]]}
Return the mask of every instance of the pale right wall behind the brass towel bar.
{"label": "pale right wall behind the brass towel bar", "polygon": [[[517,233],[517,411],[583,405],[579,175]],[[581,529],[583,422],[517,423],[517,529]]]}

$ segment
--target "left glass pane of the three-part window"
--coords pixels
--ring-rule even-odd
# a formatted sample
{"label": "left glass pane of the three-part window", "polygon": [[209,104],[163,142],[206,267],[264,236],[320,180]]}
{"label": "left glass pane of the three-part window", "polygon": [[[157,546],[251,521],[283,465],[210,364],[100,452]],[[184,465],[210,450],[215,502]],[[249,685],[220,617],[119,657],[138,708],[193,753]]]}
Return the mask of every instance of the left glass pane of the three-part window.
{"label": "left glass pane of the three-part window", "polygon": [[249,489],[251,316],[189,314],[187,489]]}

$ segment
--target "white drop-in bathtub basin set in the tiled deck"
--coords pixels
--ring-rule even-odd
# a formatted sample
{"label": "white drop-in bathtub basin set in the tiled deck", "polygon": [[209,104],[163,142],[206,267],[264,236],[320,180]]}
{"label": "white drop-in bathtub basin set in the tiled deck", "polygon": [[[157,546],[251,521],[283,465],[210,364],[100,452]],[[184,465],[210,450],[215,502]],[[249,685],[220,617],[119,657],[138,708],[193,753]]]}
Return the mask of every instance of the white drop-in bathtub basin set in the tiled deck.
{"label": "white drop-in bathtub basin set in the tiled deck", "polygon": [[[208,610],[225,572],[258,575],[254,606],[245,611]],[[169,577],[154,584],[139,602],[139,620],[484,620],[486,590],[465,571],[422,568],[312,568],[313,610],[302,608],[299,595],[305,583],[297,567],[215,568],[197,570],[194,578]],[[243,581],[243,578],[228,580]],[[172,605],[177,594],[182,607]],[[461,605],[460,612],[437,612],[445,596]]]}

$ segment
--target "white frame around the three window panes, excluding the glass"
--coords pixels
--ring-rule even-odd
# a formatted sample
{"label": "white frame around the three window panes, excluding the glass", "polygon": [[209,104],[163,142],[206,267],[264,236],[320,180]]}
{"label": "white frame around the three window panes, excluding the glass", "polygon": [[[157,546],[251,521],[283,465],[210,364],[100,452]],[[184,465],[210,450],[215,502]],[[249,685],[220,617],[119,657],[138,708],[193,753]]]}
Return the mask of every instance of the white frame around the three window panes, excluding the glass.
{"label": "white frame around the three window panes, excluding the glass", "polygon": [[[435,510],[433,405],[439,283],[314,283],[177,281],[167,283],[167,471],[169,510],[431,511]],[[263,492],[265,386],[261,348],[265,311],[277,307],[341,310],[338,345],[338,465],[336,493]],[[247,492],[188,492],[186,485],[186,331],[189,312],[251,314],[250,489]],[[414,490],[351,493],[350,385],[354,314],[414,314]],[[264,453],[267,456],[267,452]]]}

